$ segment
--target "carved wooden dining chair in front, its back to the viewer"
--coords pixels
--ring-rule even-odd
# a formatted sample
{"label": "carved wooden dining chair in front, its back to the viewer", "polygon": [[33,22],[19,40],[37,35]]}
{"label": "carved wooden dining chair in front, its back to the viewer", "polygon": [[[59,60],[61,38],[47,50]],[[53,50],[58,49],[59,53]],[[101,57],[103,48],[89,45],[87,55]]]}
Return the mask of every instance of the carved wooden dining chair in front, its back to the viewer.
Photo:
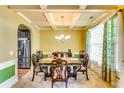
{"label": "carved wooden dining chair in front, its back to the viewer", "polygon": [[53,60],[51,63],[52,70],[52,88],[55,82],[65,82],[67,88],[67,61],[60,58]]}

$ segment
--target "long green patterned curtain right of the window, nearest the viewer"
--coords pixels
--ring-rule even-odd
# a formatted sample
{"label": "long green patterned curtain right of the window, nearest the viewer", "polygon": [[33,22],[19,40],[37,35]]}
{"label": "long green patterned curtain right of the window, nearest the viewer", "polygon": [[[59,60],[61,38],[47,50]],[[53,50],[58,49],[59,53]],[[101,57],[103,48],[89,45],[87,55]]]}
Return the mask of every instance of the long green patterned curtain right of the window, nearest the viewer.
{"label": "long green patterned curtain right of the window, nearest the viewer", "polygon": [[113,83],[116,81],[117,16],[105,23],[103,39],[102,78]]}

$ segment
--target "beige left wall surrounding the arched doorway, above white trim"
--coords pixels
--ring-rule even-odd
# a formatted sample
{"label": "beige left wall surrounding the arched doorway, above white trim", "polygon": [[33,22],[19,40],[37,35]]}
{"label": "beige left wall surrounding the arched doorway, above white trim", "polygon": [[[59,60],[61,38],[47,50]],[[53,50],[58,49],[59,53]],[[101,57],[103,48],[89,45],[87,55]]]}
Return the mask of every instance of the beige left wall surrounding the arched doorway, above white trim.
{"label": "beige left wall surrounding the arched doorway, above white trim", "polygon": [[[13,11],[5,6],[0,6],[0,63],[17,59],[17,31],[19,24],[24,24],[31,29],[32,52],[40,49],[40,31]],[[10,51],[13,51],[12,56],[10,56]]]}

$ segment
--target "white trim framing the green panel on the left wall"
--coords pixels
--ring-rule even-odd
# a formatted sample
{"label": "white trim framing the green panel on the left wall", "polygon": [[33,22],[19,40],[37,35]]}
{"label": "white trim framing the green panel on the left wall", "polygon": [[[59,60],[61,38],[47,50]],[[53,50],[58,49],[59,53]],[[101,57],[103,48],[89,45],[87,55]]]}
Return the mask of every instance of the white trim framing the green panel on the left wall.
{"label": "white trim framing the green panel on the left wall", "polygon": [[12,66],[15,64],[15,75],[10,79],[6,80],[2,84],[0,84],[0,88],[10,88],[18,81],[18,74],[17,74],[17,59],[10,60],[7,62],[3,62],[0,64],[0,70]]}

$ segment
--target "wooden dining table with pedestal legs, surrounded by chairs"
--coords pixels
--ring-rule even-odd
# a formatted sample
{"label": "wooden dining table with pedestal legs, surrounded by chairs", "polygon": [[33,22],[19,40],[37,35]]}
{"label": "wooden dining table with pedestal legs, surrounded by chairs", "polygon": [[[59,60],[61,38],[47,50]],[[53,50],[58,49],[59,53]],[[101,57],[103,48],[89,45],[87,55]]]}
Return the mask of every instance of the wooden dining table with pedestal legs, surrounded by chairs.
{"label": "wooden dining table with pedestal legs, surrounded by chairs", "polygon": [[[73,57],[71,57],[71,58],[61,58],[61,59],[66,60],[67,65],[69,67],[72,67],[72,68],[73,68],[73,66],[81,65],[81,63],[82,63],[81,60],[83,60],[83,59],[73,58]],[[43,58],[43,59],[39,60],[39,64],[41,66],[45,66],[47,68],[47,70],[45,70],[45,72],[44,72],[45,73],[45,80],[46,80],[46,77],[51,77],[50,67],[51,67],[52,60],[55,60],[55,59],[54,58]],[[76,74],[74,73],[74,71],[70,71],[68,73],[68,77],[74,77],[76,79]]]}

